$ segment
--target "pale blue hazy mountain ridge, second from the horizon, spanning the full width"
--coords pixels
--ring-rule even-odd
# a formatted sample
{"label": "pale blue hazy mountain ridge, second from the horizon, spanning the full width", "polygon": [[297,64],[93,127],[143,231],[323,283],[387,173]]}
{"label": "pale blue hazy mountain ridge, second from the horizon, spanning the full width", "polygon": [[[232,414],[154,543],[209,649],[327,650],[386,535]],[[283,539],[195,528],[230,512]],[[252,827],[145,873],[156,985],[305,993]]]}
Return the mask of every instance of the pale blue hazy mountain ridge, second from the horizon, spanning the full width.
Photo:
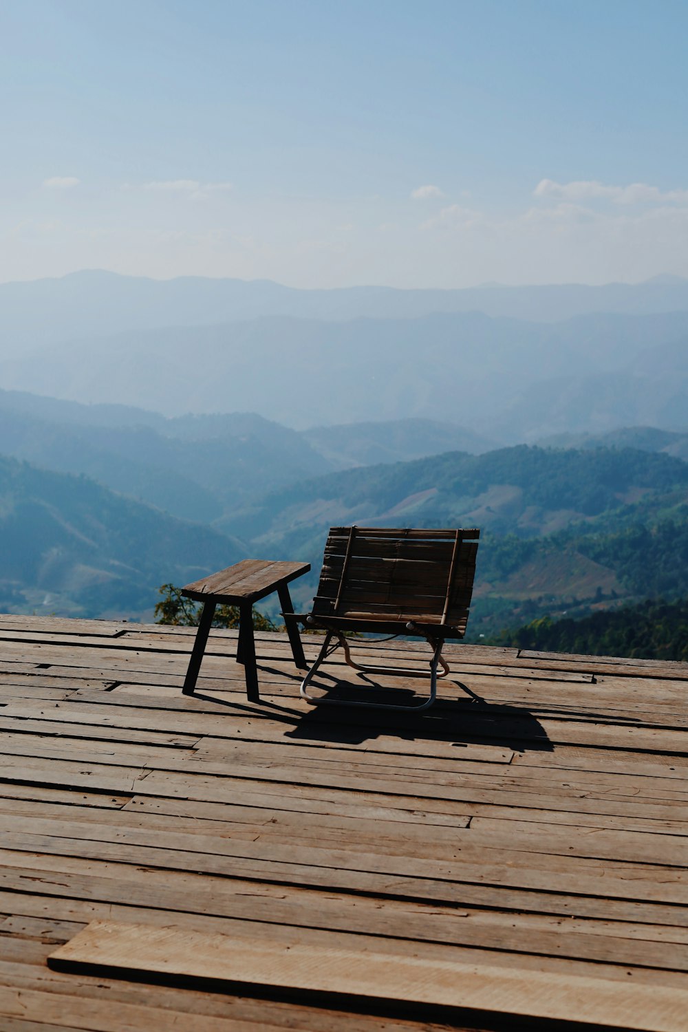
{"label": "pale blue hazy mountain ridge, second from the horizon, spanning the full width", "polygon": [[[685,428],[684,348],[688,312],[556,324],[270,317],[54,346],[0,362],[0,377],[14,390],[168,416],[250,410],[296,429],[439,419],[515,443],[632,423]],[[655,350],[666,359],[648,372]]]}

